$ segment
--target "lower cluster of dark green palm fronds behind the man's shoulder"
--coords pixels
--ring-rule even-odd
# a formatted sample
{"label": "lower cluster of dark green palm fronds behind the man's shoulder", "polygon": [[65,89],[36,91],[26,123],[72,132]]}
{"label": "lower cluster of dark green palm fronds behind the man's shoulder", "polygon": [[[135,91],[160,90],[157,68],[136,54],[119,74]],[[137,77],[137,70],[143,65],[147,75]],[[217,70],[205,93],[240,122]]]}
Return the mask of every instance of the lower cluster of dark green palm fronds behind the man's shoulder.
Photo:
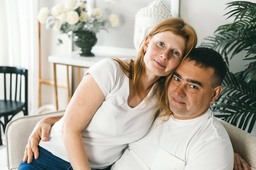
{"label": "lower cluster of dark green palm fronds behind the man's shoulder", "polygon": [[252,132],[256,122],[256,82],[246,83],[242,73],[227,73],[218,100],[211,104],[216,117]]}

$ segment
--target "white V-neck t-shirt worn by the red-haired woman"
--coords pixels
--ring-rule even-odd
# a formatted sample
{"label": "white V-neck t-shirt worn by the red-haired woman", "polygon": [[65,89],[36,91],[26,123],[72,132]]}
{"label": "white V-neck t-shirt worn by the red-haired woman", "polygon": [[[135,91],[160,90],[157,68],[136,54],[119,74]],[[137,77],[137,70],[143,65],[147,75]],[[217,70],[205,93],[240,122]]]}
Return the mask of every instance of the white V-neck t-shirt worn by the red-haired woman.
{"label": "white V-neck t-shirt worn by the red-haired woman", "polygon": [[[123,60],[130,62],[130,59]],[[153,96],[154,86],[146,102],[131,108],[127,103],[129,78],[115,60],[101,60],[87,73],[97,82],[105,99],[81,135],[91,168],[106,168],[121,157],[128,143],[141,139],[148,132],[158,109]],[[52,127],[49,141],[40,141],[39,145],[69,161],[61,139],[61,125],[62,119]]]}

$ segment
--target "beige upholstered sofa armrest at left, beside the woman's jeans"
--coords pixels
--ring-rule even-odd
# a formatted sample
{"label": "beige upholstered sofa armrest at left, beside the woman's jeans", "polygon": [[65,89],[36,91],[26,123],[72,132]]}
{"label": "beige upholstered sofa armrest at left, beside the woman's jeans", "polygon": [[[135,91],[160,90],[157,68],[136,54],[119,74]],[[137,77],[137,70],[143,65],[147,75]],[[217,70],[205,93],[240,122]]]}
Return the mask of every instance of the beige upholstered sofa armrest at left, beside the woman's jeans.
{"label": "beige upholstered sofa armrest at left, beside the woman's jeans", "polygon": [[16,169],[20,165],[29,135],[37,122],[45,117],[64,115],[65,111],[57,111],[42,115],[32,115],[19,117],[11,120],[5,129],[5,139],[7,148],[8,169]]}

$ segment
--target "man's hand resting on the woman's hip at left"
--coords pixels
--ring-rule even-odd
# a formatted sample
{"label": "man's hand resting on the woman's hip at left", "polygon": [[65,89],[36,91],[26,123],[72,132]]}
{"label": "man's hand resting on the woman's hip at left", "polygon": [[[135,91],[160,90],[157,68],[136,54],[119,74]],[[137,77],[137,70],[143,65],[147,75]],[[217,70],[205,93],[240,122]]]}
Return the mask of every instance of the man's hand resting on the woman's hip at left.
{"label": "man's hand resting on the woman's hip at left", "polygon": [[31,132],[27,146],[25,148],[23,162],[31,163],[33,157],[38,159],[39,151],[38,144],[40,139],[42,141],[47,141],[49,137],[49,132],[56,121],[61,119],[62,116],[49,117],[38,121],[34,130]]}

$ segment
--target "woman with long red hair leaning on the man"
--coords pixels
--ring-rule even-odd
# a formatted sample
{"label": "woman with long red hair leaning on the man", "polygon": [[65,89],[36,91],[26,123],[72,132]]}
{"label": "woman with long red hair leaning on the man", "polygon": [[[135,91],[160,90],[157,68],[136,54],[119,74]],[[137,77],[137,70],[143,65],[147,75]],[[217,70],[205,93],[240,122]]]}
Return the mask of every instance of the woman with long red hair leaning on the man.
{"label": "woman with long red hair leaning on the man", "polygon": [[108,168],[128,143],[146,134],[166,76],[196,44],[194,29],[171,18],[150,31],[133,62],[104,59],[94,64],[52,127],[49,141],[40,142],[39,159],[22,162],[19,170]]}

